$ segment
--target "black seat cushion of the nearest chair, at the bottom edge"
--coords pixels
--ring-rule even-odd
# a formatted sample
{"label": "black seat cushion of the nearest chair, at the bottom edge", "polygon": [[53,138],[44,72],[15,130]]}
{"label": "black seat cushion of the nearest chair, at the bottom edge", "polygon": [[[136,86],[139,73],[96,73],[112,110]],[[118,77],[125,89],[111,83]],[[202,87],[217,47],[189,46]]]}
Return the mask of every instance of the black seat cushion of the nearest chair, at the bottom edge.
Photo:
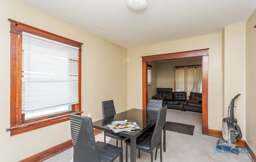
{"label": "black seat cushion of the nearest chair, at the bottom edge", "polygon": [[122,152],[122,148],[101,141],[96,142],[100,162],[113,162]]}

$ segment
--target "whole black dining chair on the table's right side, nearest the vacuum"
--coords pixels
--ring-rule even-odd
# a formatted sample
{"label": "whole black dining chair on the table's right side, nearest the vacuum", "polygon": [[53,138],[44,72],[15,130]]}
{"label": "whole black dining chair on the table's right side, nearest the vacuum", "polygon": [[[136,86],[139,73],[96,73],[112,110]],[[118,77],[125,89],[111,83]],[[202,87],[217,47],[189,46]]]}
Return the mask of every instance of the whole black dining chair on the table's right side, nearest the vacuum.
{"label": "whole black dining chair on the table's right side, nearest the vacuum", "polygon": [[[152,133],[142,133],[136,138],[136,148],[140,151],[148,152],[151,155],[151,162],[153,162],[153,150],[160,144],[160,161],[162,162],[162,130],[165,123],[167,112],[167,106],[162,107],[158,110],[158,116],[156,119],[156,126]],[[126,144],[126,162],[128,154],[128,145],[130,146],[130,139],[124,140]]]}

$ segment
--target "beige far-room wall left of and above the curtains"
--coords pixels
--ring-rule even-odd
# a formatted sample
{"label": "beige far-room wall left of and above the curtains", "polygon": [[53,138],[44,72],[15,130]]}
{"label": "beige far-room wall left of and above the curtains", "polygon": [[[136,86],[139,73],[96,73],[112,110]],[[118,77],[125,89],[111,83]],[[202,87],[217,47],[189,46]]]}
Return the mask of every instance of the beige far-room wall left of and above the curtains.
{"label": "beige far-room wall left of and above the curtains", "polygon": [[175,91],[175,66],[201,65],[202,58],[196,59],[179,59],[172,61],[158,62],[157,87],[172,88]]}

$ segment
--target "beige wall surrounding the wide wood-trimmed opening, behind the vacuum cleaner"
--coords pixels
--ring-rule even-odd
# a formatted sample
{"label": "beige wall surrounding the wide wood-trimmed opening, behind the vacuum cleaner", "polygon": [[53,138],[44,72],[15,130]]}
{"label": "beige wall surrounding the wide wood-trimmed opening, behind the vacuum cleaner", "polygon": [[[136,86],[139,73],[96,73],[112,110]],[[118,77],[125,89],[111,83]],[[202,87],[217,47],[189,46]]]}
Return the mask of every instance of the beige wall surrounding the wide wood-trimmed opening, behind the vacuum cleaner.
{"label": "beige wall surrounding the wide wood-trimmed opening, behind the vacuum cleaner", "polygon": [[[236,100],[237,108],[234,113],[242,130],[242,139],[246,139],[245,33],[245,24],[238,24],[225,27],[224,32],[219,34],[128,49],[128,109],[142,107],[141,56],[209,48],[208,128],[222,130],[222,118],[228,114],[231,99],[241,93]],[[140,68],[140,71],[134,72],[135,68]],[[158,65],[158,76],[160,69]],[[134,80],[138,82],[135,83]],[[160,84],[162,83],[158,79],[158,85]],[[162,85],[166,87],[166,83]]]}

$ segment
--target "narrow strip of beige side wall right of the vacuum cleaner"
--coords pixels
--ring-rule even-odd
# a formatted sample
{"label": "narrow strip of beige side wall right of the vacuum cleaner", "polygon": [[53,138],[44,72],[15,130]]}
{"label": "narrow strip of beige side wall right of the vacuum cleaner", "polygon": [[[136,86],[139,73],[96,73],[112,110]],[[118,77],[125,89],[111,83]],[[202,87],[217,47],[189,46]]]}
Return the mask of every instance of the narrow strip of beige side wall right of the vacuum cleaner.
{"label": "narrow strip of beige side wall right of the vacuum cleaner", "polygon": [[[246,23],[246,141],[256,150],[256,10]],[[256,155],[256,152],[254,152]]]}

